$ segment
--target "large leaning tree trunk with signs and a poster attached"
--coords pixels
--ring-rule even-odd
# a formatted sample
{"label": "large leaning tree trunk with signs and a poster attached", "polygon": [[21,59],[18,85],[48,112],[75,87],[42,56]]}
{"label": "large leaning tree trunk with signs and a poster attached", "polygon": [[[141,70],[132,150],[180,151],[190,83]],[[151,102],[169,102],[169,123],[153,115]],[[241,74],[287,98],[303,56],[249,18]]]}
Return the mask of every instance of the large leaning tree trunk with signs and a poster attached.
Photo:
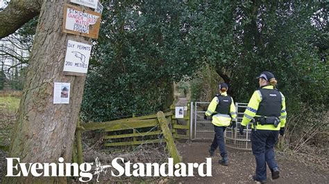
{"label": "large leaning tree trunk with signs and a poster attached", "polygon": [[[19,105],[8,157],[21,163],[64,163],[71,149],[81,107],[85,76],[65,76],[63,66],[68,39],[90,42],[62,33],[63,6],[69,0],[44,0],[35,33],[31,62]],[[71,83],[69,104],[53,104],[54,82]],[[4,177],[4,183],[66,183],[65,177]]]}

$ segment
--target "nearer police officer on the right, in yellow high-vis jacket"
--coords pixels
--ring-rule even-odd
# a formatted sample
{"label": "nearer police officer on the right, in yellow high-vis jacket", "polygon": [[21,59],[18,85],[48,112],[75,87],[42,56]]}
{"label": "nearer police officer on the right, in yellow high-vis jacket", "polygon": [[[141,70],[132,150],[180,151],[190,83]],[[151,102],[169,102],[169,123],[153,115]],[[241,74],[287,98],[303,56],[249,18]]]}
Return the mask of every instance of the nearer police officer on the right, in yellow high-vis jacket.
{"label": "nearer police officer on the right, in yellow high-vis jacket", "polygon": [[252,119],[251,148],[256,160],[256,173],[253,180],[265,183],[267,179],[267,165],[271,169],[272,179],[280,177],[278,164],[274,158],[274,145],[278,134],[285,133],[287,112],[285,96],[276,89],[276,78],[273,73],[264,71],[259,77],[260,88],[249,100],[244,118],[239,127],[240,134]]}

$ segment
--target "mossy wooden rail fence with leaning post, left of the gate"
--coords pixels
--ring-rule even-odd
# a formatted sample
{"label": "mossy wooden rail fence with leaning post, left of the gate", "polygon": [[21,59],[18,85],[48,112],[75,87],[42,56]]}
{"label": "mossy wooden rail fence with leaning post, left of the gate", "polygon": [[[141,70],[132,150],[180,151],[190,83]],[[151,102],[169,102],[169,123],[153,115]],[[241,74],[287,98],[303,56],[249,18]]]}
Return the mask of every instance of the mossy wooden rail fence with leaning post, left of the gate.
{"label": "mossy wooden rail fence with leaning post, left of the gate", "polygon": [[[109,122],[90,122],[82,124],[78,122],[72,158],[73,160],[77,160],[78,163],[83,162],[81,131],[103,130],[107,134],[104,136],[104,140],[106,140],[104,146],[106,147],[153,144],[165,141],[167,150],[171,157],[174,158],[174,163],[178,163],[181,161],[181,157],[176,149],[174,138],[180,138],[179,136],[181,135],[173,136],[171,130],[186,129],[187,125],[175,125],[175,128],[169,129],[172,117],[172,112],[163,113],[159,111],[157,114],[149,116],[126,118]],[[164,139],[162,140],[159,136],[163,136]]]}

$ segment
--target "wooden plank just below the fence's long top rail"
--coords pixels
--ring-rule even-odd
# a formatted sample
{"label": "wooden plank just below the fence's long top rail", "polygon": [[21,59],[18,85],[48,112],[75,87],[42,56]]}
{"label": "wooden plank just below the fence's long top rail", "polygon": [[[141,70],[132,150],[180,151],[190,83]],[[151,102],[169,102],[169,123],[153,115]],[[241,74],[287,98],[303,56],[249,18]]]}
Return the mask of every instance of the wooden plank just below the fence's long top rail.
{"label": "wooden plank just below the fence's long top rail", "polygon": [[158,125],[156,120],[151,120],[149,122],[145,122],[142,120],[140,122],[135,123],[116,123],[115,125],[110,125],[104,129],[104,131],[118,131],[118,130],[125,130],[125,129],[137,129],[137,128],[144,128],[144,127],[155,127]]}

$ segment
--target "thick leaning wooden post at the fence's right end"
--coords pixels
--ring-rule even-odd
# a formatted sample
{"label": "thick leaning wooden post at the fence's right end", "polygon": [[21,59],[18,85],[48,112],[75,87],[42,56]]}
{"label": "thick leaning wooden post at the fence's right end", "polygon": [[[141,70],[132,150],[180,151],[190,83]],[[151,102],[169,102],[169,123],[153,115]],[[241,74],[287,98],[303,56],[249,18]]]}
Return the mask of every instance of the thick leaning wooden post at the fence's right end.
{"label": "thick leaning wooden post at the fence's right end", "polygon": [[174,158],[174,164],[182,162],[182,158],[178,154],[174,138],[171,134],[171,131],[168,127],[168,121],[165,117],[165,114],[162,111],[158,111],[157,113],[158,121],[160,124],[160,127],[162,129],[162,134],[165,137],[165,141],[167,142],[167,149],[169,151],[169,154],[171,158]]}

